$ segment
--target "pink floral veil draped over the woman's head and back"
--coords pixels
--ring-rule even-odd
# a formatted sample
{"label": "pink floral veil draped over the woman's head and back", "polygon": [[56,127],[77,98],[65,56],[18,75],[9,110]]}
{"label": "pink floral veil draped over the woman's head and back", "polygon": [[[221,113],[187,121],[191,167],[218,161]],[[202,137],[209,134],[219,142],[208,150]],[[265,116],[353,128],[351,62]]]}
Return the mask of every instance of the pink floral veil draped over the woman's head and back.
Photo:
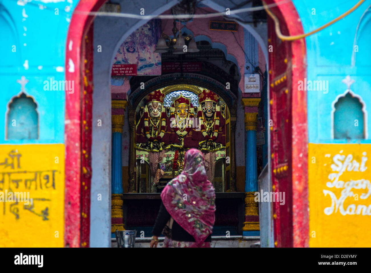
{"label": "pink floral veil draped over the woman's head and back", "polygon": [[200,246],[213,232],[215,190],[207,180],[204,156],[199,150],[185,153],[183,172],[167,183],[161,199],[171,217],[194,237],[191,247]]}

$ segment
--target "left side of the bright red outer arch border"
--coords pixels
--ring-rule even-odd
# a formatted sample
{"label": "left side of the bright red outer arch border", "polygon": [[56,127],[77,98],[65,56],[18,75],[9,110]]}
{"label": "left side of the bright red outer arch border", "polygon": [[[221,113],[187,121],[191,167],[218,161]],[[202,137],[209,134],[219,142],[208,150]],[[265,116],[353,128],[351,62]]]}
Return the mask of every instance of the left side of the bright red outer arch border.
{"label": "left side of the bright red outer arch border", "polygon": [[[83,12],[97,11],[106,0],[80,0],[68,29],[66,40],[66,80],[74,81],[75,92],[66,91],[65,117],[65,246],[81,246],[81,152],[82,152],[82,45],[94,19]],[[79,13],[81,12],[81,13]],[[85,227],[89,233],[89,227]],[[89,234],[88,234],[89,236]],[[89,242],[87,242],[88,244]]]}

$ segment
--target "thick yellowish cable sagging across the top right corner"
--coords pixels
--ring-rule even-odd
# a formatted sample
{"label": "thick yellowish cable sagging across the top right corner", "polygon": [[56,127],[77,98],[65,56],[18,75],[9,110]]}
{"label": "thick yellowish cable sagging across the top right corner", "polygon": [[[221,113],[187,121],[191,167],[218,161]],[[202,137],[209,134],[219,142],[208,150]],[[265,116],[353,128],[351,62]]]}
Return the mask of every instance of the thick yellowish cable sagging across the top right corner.
{"label": "thick yellowish cable sagging across the top right corner", "polygon": [[275,30],[276,30],[276,34],[278,36],[278,38],[280,38],[281,40],[283,41],[294,41],[294,40],[298,40],[298,39],[301,39],[301,38],[305,38],[309,35],[312,35],[316,32],[319,32],[320,30],[322,29],[325,29],[326,27],[328,26],[331,26],[332,24],[338,22],[340,19],[344,18],[345,16],[349,15],[350,13],[354,12],[354,10],[356,10],[365,0],[360,0],[357,4],[355,4],[351,9],[349,9],[347,12],[341,14],[340,16],[336,17],[334,20],[331,20],[330,22],[326,23],[325,25],[321,26],[321,27],[318,27],[317,29],[315,30],[312,30],[311,32],[308,32],[308,33],[303,33],[303,34],[300,34],[300,35],[293,35],[293,36],[286,36],[286,35],[282,35],[281,33],[281,30],[280,30],[280,27],[279,27],[279,20],[277,19],[277,17],[269,10],[269,7],[268,5],[262,1],[263,3],[263,7],[265,9],[265,11],[268,13],[268,15],[273,19],[273,21],[275,22]]}

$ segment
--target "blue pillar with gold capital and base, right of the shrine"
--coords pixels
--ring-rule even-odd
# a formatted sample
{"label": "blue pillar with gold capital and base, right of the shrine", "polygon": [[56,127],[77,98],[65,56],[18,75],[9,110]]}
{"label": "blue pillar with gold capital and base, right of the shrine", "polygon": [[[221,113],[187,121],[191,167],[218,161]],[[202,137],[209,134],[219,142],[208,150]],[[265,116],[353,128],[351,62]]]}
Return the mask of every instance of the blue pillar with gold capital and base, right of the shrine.
{"label": "blue pillar with gold capital and base, right of the shrine", "polygon": [[243,235],[259,231],[259,209],[254,193],[258,191],[256,160],[256,124],[260,98],[242,98],[246,129],[245,222]]}

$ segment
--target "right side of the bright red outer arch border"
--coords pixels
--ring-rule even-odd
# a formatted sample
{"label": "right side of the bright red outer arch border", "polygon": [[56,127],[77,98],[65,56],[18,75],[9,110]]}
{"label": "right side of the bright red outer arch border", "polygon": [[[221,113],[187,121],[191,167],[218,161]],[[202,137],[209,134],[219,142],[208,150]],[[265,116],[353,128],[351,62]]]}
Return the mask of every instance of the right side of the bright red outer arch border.
{"label": "right side of the bright red outer arch border", "polygon": [[[278,2],[266,1],[267,4]],[[279,4],[272,12],[281,24],[286,25],[289,35],[304,33],[292,1]],[[292,247],[309,247],[307,94],[306,91],[295,92],[298,89],[297,82],[306,77],[306,46],[305,39],[286,43],[290,43],[292,54]]]}

